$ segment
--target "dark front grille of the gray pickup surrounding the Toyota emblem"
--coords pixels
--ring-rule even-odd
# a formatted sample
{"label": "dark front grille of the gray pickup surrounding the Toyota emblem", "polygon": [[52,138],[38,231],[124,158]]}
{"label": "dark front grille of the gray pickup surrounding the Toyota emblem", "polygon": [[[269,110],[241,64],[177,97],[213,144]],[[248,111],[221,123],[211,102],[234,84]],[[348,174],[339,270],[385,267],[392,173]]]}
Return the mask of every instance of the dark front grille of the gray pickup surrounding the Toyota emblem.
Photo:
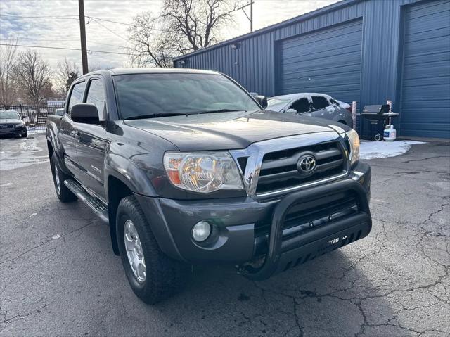
{"label": "dark front grille of the gray pickup surrounding the Toyota emblem", "polygon": [[[308,176],[297,170],[297,162],[304,154],[311,154],[316,158],[316,170]],[[269,193],[302,186],[342,174],[346,168],[345,155],[338,141],[266,153],[256,192]]]}

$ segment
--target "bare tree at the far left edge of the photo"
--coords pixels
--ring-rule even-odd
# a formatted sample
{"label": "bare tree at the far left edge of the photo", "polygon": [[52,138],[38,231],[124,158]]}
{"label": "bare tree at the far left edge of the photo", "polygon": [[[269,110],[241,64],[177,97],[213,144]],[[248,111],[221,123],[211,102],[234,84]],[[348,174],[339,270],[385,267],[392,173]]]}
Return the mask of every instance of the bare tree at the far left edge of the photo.
{"label": "bare tree at the far left edge of the photo", "polygon": [[8,46],[0,47],[0,104],[9,107],[17,99],[17,89],[13,83],[13,68],[17,56],[18,38],[8,39]]}

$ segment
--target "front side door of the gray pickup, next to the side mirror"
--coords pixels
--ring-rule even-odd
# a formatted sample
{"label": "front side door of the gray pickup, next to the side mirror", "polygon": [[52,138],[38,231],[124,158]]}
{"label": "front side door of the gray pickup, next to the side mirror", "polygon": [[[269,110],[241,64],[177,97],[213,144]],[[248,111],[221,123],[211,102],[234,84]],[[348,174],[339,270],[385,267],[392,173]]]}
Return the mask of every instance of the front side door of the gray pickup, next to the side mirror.
{"label": "front side door of the gray pickup, next to the side mirror", "polygon": [[82,170],[80,182],[90,189],[98,198],[105,201],[104,189],[104,160],[105,160],[105,86],[101,77],[89,80],[86,103],[92,103],[97,107],[99,124],[76,123],[77,134],[75,136],[77,148],[77,161]]}

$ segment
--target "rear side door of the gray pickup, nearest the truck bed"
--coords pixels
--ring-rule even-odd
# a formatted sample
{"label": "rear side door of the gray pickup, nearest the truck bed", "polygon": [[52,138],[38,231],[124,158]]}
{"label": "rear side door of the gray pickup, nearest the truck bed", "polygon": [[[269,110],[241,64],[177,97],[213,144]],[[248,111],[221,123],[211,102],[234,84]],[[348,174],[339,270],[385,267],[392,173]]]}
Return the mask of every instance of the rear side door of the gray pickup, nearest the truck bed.
{"label": "rear side door of the gray pickup, nearest the truck bed", "polygon": [[83,100],[84,87],[86,87],[86,82],[78,82],[73,85],[70,94],[68,104],[66,106],[65,114],[61,119],[60,129],[59,129],[59,139],[64,153],[64,163],[68,167],[70,172],[77,176],[77,151],[75,149],[75,122],[70,118],[70,110],[72,106],[77,103],[81,103]]}

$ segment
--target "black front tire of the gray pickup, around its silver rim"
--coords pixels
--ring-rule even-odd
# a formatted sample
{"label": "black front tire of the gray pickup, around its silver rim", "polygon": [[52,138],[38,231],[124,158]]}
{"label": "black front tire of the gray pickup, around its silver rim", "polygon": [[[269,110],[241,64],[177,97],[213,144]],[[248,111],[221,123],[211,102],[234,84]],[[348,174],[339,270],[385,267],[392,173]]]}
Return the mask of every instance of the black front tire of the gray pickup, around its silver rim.
{"label": "black front tire of the gray pickup, around its silver rim", "polygon": [[[146,278],[139,281],[129,264],[124,243],[124,225],[133,222],[142,245]],[[186,283],[187,267],[162,253],[150,225],[135,196],[123,198],[117,208],[116,233],[122,265],[137,297],[147,304],[155,304],[181,291]]]}

